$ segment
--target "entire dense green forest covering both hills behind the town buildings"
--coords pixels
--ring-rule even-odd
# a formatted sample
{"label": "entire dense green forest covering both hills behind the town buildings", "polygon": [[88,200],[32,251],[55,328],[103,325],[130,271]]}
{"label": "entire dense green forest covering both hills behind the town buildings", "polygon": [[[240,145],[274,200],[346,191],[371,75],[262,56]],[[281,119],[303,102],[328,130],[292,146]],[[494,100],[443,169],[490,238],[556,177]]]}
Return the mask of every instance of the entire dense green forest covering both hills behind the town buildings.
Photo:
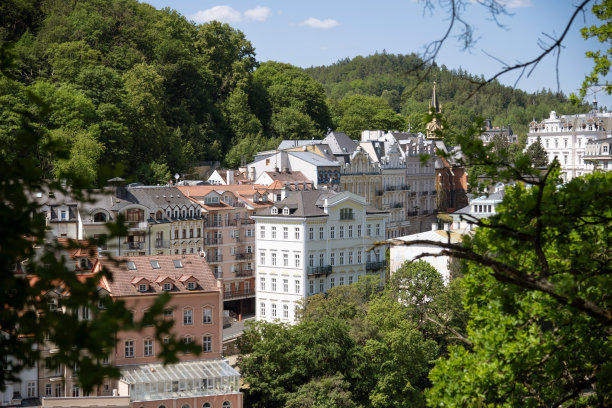
{"label": "entire dense green forest covering both hills behind the town buildings", "polygon": [[[307,70],[259,63],[229,25],[197,25],[135,0],[4,1],[0,44],[18,78],[0,82],[0,138],[10,143],[17,113],[27,112],[43,140],[68,141],[69,157],[38,158],[50,177],[70,170],[96,181],[106,166],[160,183],[194,162],[237,166],[280,139],[321,138],[328,129],[353,137],[364,128],[422,130],[433,79],[457,132],[476,116],[525,129],[550,109],[580,109],[563,95],[499,84],[466,100],[473,87],[467,73],[433,66],[418,83],[414,55]],[[31,93],[50,109],[28,102]]]}

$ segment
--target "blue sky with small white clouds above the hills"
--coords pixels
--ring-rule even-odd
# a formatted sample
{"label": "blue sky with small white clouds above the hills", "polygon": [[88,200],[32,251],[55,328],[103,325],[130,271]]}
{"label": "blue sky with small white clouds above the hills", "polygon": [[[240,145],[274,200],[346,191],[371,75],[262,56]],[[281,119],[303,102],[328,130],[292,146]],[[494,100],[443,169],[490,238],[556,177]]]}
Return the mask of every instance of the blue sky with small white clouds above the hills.
{"label": "blue sky with small white clouds above the hills", "polygon": [[[467,50],[455,30],[443,45],[436,62],[449,69],[462,68],[489,78],[504,64],[514,65],[535,58],[541,45],[563,33],[569,18],[582,0],[498,0],[507,15],[495,22],[476,0],[466,0],[462,16],[474,27],[475,44]],[[448,13],[431,0],[149,0],[161,9],[170,7],[201,24],[219,20],[242,31],[255,47],[258,61],[279,61],[299,67],[330,65],[345,58],[375,52],[422,53],[430,42],[440,39],[449,25]],[[560,55],[546,57],[527,77],[516,83],[518,72],[499,78],[505,85],[528,92],[550,89],[568,95],[580,88],[592,69],[587,50],[601,48],[595,39],[584,40],[580,28],[597,23],[590,11],[581,13],[567,33]],[[557,63],[558,58],[558,77]],[[601,81],[601,79],[600,79]],[[601,81],[603,82],[603,81]],[[444,84],[439,86],[443,87]],[[599,106],[612,110],[612,96],[592,89]],[[558,112],[562,114],[563,112]]]}

